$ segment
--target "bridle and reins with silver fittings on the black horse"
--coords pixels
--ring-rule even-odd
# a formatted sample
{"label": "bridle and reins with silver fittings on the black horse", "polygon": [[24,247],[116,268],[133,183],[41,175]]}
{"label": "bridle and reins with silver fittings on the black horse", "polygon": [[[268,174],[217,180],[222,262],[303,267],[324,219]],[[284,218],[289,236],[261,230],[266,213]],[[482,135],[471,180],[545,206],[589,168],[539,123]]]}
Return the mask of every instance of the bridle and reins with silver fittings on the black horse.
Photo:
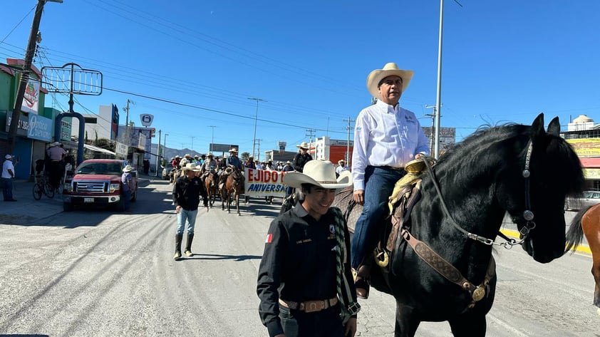
{"label": "bridle and reins with silver fittings on the black horse", "polygon": [[[527,239],[527,235],[529,235],[529,232],[535,228],[535,222],[533,221],[534,214],[530,210],[531,209],[531,196],[529,193],[530,192],[529,191],[530,190],[529,189],[529,177],[531,176],[531,172],[529,172],[529,165],[531,163],[532,151],[533,151],[533,141],[529,140],[529,142],[527,144],[527,155],[525,156],[525,168],[522,172],[522,175],[525,179],[525,210],[523,212],[523,219],[526,221],[526,223],[521,227],[521,229],[519,229],[519,234],[520,234],[519,240],[512,239],[510,237],[507,237],[502,232],[498,232],[498,236],[502,237],[502,239],[505,239],[506,242],[495,242],[494,239],[482,237],[480,235],[468,232],[464,228],[460,227],[460,225],[455,222],[454,218],[452,218],[450,211],[448,211],[448,207],[446,206],[446,202],[444,200],[444,197],[442,196],[442,191],[440,190],[440,184],[438,182],[438,179],[435,177],[435,172],[433,171],[433,167],[430,165],[429,160],[423,160],[425,162],[425,165],[427,165],[428,171],[431,175],[431,180],[433,180],[433,185],[435,186],[435,190],[438,192],[438,196],[440,197],[442,209],[444,210],[444,213],[446,214],[446,216],[450,219],[452,226],[454,226],[460,232],[465,234],[465,236],[467,238],[475,240],[477,242],[481,242],[482,244],[487,244],[489,246],[492,246],[495,244],[497,246],[505,247],[506,249],[511,249],[513,246],[516,246],[517,244],[522,244],[522,242],[524,242],[525,239]],[[514,217],[512,218],[512,222],[517,224],[517,220]]]}

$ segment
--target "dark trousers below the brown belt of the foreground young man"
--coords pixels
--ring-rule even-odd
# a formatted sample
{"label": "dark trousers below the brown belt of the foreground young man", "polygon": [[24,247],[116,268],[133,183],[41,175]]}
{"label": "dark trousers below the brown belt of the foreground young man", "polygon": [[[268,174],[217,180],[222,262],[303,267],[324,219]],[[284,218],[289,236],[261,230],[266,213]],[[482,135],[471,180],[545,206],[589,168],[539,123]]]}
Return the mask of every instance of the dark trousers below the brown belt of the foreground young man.
{"label": "dark trousers below the brown belt of the foreground young man", "polygon": [[340,318],[340,306],[305,313],[279,305],[279,318],[286,337],[343,337],[345,328]]}

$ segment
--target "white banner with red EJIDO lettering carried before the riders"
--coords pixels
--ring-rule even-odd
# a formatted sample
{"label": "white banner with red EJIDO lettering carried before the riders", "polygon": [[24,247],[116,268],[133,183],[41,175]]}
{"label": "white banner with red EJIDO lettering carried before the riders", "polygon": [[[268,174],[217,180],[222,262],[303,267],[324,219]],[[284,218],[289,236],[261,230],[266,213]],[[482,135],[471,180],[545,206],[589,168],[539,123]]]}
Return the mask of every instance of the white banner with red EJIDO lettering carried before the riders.
{"label": "white banner with red EJIDO lettering carried before the riders", "polygon": [[286,186],[283,183],[287,172],[254,170],[246,167],[244,194],[249,197],[279,196],[285,197]]}

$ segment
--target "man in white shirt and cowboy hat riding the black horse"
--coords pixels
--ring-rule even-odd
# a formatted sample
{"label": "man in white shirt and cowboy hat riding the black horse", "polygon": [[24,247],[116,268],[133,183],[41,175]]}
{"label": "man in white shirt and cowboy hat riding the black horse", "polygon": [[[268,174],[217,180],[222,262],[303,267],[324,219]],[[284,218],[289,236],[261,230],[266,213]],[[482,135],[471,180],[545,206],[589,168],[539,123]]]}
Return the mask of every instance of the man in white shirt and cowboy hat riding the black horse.
{"label": "man in white shirt and cowboy hat riding the black horse", "polygon": [[354,127],[353,198],[364,206],[352,239],[351,263],[356,270],[356,294],[363,299],[368,297],[370,254],[388,197],[406,174],[404,165],[429,155],[428,138],[415,114],[398,104],[411,78],[413,71],[400,70],[395,63],[371,71],[367,88],[377,103],[358,114]]}

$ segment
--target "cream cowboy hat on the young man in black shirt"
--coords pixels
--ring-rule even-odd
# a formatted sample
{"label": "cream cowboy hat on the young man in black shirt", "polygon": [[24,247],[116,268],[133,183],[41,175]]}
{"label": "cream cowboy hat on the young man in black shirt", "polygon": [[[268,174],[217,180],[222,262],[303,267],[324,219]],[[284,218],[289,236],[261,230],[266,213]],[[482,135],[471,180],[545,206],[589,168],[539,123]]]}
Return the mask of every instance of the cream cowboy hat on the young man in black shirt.
{"label": "cream cowboy hat on the young man in black shirt", "polygon": [[352,175],[344,171],[336,179],[336,169],[329,160],[311,160],[304,165],[303,173],[289,172],[284,175],[284,184],[301,188],[302,184],[311,184],[326,189],[338,189],[352,185]]}

